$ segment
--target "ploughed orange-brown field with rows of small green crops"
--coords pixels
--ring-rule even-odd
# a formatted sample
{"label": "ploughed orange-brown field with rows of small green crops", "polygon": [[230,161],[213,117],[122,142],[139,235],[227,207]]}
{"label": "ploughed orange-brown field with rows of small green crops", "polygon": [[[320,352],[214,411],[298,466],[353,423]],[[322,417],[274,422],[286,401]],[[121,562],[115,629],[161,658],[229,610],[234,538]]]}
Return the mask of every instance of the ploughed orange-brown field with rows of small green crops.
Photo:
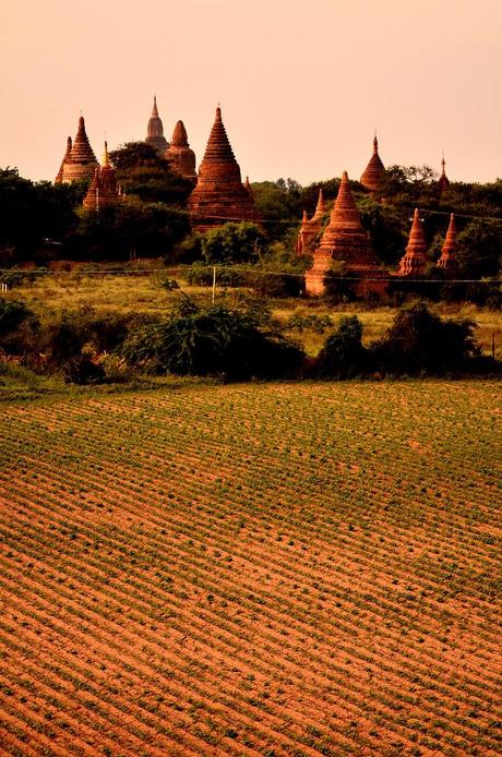
{"label": "ploughed orange-brown field with rows of small green crops", "polygon": [[498,754],[499,419],[480,381],[4,402],[2,754]]}

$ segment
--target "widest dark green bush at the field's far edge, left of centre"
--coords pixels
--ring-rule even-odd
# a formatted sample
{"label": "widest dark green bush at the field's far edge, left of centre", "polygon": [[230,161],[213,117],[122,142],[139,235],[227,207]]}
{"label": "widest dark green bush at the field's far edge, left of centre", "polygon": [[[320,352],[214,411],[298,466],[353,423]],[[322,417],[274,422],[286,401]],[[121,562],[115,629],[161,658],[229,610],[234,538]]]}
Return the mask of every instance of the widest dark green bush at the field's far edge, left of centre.
{"label": "widest dark green bush at the field's far edge, left of centre", "polygon": [[227,380],[290,375],[302,350],[277,333],[263,332],[251,311],[178,304],[167,320],[131,333],[121,350],[131,365],[156,373],[219,375]]}

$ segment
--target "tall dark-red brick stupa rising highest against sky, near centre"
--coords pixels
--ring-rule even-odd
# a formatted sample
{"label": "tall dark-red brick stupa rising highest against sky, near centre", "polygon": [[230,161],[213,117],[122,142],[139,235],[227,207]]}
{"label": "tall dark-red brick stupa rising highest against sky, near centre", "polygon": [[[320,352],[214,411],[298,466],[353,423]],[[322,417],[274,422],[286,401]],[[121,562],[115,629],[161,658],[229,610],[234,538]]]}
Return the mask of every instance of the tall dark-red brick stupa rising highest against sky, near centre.
{"label": "tall dark-red brick stupa rising highest against sky, near centre", "polygon": [[205,231],[229,221],[258,221],[252,194],[242,184],[225,127],[222,110],[211,130],[207,147],[199,167],[199,180],[189,197],[192,227]]}

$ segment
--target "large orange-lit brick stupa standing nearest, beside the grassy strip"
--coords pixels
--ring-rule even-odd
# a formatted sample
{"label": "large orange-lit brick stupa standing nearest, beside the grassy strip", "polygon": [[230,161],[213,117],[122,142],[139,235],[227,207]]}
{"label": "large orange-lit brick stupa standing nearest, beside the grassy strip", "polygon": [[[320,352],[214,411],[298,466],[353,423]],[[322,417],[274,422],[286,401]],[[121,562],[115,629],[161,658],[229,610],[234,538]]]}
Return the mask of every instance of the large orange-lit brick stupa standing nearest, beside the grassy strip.
{"label": "large orange-lit brick stupa standing nearest, beside the grassy strip", "polygon": [[[330,223],[324,229],[321,244],[314,252],[313,265],[306,273],[307,295],[322,295],[324,292],[324,277],[328,272],[332,261],[345,263],[347,274],[357,278],[380,279],[385,272],[380,267],[379,259],[362,228],[359,211],[356,207],[347,171],[344,171],[339,190]],[[356,287],[359,292],[374,289],[381,291],[382,283],[374,285],[364,283]]]}

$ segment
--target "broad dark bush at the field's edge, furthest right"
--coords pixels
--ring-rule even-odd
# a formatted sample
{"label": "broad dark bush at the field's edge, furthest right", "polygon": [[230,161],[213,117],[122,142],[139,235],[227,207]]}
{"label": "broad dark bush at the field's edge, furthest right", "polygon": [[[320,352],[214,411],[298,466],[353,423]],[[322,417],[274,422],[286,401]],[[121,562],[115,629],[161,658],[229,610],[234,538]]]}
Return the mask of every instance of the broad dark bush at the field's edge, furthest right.
{"label": "broad dark bush at the field's edge, furthest right", "polygon": [[371,353],[376,367],[396,375],[433,374],[468,368],[480,355],[469,320],[442,321],[425,303],[401,310]]}

